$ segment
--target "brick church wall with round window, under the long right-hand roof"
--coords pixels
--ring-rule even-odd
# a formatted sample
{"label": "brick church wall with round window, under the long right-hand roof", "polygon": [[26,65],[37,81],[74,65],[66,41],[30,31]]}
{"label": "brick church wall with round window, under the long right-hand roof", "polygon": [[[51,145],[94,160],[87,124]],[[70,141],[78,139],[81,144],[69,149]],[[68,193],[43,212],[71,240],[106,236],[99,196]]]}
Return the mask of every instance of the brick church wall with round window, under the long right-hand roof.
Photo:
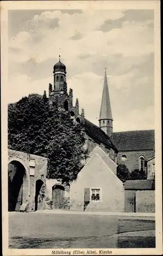
{"label": "brick church wall with round window, under the long right-hand roof", "polygon": [[[121,157],[126,155],[126,160],[123,161]],[[118,153],[118,164],[125,164],[131,172],[134,169],[139,169],[139,157],[144,156],[145,160],[154,156],[154,151],[130,151]]]}

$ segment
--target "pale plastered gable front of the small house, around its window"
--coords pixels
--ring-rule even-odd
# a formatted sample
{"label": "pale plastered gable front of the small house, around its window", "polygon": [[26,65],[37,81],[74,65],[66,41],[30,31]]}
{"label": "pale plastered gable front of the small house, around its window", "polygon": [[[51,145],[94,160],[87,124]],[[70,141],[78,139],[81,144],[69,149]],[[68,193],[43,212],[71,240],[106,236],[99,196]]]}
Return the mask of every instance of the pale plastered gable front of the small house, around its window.
{"label": "pale plastered gable front of the small house, around its window", "polygon": [[101,200],[89,201],[86,211],[124,211],[124,187],[112,170],[96,153],[80,170],[77,180],[70,185],[70,209],[84,210],[87,189],[100,189]]}

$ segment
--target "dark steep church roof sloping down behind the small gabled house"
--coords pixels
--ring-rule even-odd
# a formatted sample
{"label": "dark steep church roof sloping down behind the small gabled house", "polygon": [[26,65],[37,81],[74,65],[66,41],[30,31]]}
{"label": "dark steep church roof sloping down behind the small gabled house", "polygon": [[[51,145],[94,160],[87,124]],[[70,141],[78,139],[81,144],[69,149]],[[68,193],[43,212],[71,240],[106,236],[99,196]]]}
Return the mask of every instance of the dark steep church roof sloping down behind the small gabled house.
{"label": "dark steep church roof sloping down behind the small gabled house", "polygon": [[85,131],[87,135],[98,143],[104,144],[107,148],[113,148],[117,152],[117,148],[98,126],[85,119]]}

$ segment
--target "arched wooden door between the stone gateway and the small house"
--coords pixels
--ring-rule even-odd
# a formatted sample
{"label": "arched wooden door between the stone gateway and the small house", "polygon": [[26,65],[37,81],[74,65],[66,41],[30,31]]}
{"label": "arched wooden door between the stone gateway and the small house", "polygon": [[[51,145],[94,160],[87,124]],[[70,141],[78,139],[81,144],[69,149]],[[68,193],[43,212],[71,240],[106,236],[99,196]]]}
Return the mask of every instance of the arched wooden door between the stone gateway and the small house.
{"label": "arched wooden door between the stone gateway and the small house", "polygon": [[53,209],[64,209],[65,188],[62,185],[52,187]]}

